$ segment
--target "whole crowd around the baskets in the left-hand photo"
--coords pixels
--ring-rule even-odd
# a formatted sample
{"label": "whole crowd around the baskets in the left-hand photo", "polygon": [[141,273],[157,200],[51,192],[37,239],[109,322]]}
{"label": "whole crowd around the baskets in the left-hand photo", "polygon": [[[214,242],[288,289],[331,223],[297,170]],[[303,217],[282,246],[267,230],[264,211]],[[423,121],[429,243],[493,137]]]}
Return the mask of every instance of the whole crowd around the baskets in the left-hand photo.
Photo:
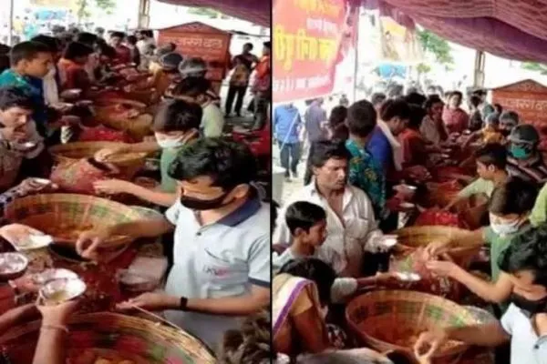
{"label": "whole crowd around the baskets in the left-hand photo", "polygon": [[[252,45],[245,45],[243,53],[234,57],[226,100],[229,116],[237,96],[234,111],[240,115],[251,85],[257,128],[266,127],[269,119],[269,49],[269,42],[264,43],[263,56],[258,58],[251,53]],[[165,218],[95,227],[78,238],[77,252],[93,260],[110,236],[170,236],[174,242],[166,246],[170,249],[166,254],[172,267],[164,292],[120,302],[117,309],[164,311],[170,321],[214,351],[221,347],[224,332],[228,331],[228,338],[230,333],[241,337],[243,319],[262,315],[270,302],[270,207],[254,187],[259,166],[252,151],[222,137],[221,100],[206,78],[207,63],[178,53],[174,44],[156,45],[150,30],[126,35],[98,29],[97,34],[36,35],[13,47],[0,45],[0,66],[2,210],[16,198],[57,191],[55,184],[36,182],[51,172],[48,147],[77,141],[83,119],[93,116],[89,104],[131,81],[123,70],[146,76],[140,86],[155,91],[149,105],[150,137],[119,143],[93,158],[106,163],[119,154],[160,152],[160,187],[150,189],[120,179],[101,180],[94,187],[97,194],[129,193],[166,209]],[[0,236],[10,243],[41,233],[18,224],[0,227]],[[2,287],[0,331],[38,319],[41,313],[34,362],[65,363],[67,322],[77,311],[77,302],[21,306],[25,302],[19,298],[36,293],[29,277]],[[222,347],[219,354],[226,363],[258,362],[243,361],[244,348],[233,345]]]}

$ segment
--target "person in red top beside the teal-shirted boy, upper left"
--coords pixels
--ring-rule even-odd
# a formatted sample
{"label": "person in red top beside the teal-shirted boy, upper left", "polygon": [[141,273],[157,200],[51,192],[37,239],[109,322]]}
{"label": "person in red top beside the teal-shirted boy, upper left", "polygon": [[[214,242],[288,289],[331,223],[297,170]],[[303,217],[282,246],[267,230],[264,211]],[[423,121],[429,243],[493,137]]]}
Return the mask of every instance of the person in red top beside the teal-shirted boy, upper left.
{"label": "person in red top beside the teal-shirted boy, upper left", "polygon": [[86,94],[91,87],[91,79],[86,71],[89,55],[93,49],[83,43],[72,42],[67,45],[63,57],[59,60],[59,76],[63,90],[78,88]]}

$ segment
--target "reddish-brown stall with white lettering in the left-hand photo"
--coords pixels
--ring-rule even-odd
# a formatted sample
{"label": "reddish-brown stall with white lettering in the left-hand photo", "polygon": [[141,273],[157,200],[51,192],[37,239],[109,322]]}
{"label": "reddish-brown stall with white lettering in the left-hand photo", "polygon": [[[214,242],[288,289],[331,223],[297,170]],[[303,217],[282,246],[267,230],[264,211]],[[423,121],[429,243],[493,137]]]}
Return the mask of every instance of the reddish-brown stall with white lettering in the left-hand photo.
{"label": "reddish-brown stall with white lettering in the left-hand photo", "polygon": [[201,57],[207,62],[214,90],[220,91],[230,63],[232,34],[200,22],[160,29],[158,43],[177,45],[177,52],[186,57]]}

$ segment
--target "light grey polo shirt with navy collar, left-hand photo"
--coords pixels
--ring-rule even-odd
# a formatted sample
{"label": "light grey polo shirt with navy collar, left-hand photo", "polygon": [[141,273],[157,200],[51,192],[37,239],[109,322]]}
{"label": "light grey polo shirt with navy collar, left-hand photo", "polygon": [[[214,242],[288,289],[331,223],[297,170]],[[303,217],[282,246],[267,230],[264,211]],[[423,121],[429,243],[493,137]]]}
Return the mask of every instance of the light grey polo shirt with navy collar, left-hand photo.
{"label": "light grey polo shirt with navy collar, left-hand photo", "polygon": [[[253,285],[270,287],[270,206],[258,198],[215,224],[201,226],[181,202],[166,217],[175,225],[174,264],[166,292],[186,298],[238,297]],[[218,349],[224,332],[240,329],[244,318],[166,311],[172,323]]]}

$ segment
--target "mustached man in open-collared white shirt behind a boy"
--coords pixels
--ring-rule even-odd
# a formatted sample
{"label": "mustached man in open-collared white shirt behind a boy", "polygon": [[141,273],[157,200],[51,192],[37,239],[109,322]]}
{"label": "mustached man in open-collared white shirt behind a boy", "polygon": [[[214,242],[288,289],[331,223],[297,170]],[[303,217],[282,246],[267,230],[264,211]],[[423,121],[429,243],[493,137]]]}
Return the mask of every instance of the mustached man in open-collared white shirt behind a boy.
{"label": "mustached man in open-collared white shirt behind a boy", "polygon": [[381,249],[382,232],[377,227],[370,199],[361,189],[347,184],[350,158],[344,143],[316,143],[311,156],[314,180],[290,197],[276,223],[274,244],[290,244],[291,233],[286,225],[286,208],[296,201],[308,201],[326,211],[327,237],[319,249],[332,248],[345,260],[343,276],[360,277],[365,251]]}

